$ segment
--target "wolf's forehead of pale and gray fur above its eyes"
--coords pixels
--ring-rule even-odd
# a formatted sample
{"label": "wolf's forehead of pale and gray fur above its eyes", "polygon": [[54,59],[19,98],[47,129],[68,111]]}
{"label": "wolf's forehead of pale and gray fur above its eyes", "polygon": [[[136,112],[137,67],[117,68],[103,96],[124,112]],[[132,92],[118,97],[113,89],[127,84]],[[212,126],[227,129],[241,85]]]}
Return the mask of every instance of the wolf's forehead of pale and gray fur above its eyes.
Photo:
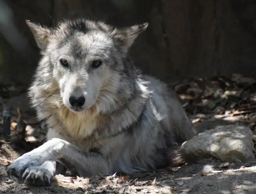
{"label": "wolf's forehead of pale and gray fur above its eyes", "polygon": [[77,32],[61,47],[62,51],[69,52],[75,57],[83,57],[87,54],[106,55],[113,47],[113,41],[103,32]]}

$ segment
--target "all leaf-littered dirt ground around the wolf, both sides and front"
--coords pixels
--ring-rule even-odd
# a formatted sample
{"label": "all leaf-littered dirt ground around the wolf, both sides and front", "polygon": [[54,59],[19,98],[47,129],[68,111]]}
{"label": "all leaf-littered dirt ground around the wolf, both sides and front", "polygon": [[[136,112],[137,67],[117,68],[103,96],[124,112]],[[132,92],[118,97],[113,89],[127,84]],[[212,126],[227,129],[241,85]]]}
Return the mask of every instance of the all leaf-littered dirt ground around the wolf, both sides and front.
{"label": "all leaf-littered dirt ground around the wolf, both sides and front", "polygon": [[[179,94],[184,109],[199,131],[215,128],[219,125],[246,125],[256,128],[254,79],[224,80],[216,84],[210,80],[183,80],[171,85]],[[223,87],[223,82],[226,84]],[[196,84],[195,84],[196,83]],[[210,85],[210,87],[207,87]],[[212,84],[213,83],[213,84]],[[229,86],[227,87],[227,83]],[[233,85],[232,85],[233,84]],[[246,87],[245,87],[246,85]],[[18,92],[17,92],[18,90]],[[207,93],[207,91],[209,93]],[[2,93],[1,93],[2,92]],[[12,93],[14,92],[14,94]],[[16,93],[15,93],[16,92]],[[229,92],[229,93],[228,93]],[[247,93],[246,93],[247,92]],[[226,95],[226,96],[225,96]],[[5,104],[13,107],[12,125],[18,120],[16,108],[20,107],[27,123],[26,140],[40,143],[46,130],[34,117],[28,106],[26,93],[22,89],[0,89]],[[2,106],[0,99],[0,128],[2,127]],[[0,137],[1,138],[1,137]],[[37,144],[33,144],[36,145]],[[8,176],[5,168],[25,150],[0,141],[0,193],[48,194],[48,193],[172,193],[172,194],[254,194],[256,193],[255,163],[219,161],[215,158],[198,159],[195,163],[185,163],[177,168],[166,168],[146,172],[133,177],[102,175],[94,177],[71,177],[57,175],[52,185],[34,187]],[[205,165],[214,171],[203,170]]]}

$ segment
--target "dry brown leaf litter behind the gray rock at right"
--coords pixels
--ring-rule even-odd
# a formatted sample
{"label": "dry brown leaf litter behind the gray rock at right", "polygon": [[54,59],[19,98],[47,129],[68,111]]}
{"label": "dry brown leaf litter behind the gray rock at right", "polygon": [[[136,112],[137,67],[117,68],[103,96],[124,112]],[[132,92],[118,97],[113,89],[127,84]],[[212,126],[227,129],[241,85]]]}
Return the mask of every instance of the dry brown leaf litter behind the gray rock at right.
{"label": "dry brown leaf litter behind the gray rock at right", "polygon": [[184,79],[169,84],[197,126],[206,120],[243,123],[256,129],[256,79],[233,74],[227,77]]}

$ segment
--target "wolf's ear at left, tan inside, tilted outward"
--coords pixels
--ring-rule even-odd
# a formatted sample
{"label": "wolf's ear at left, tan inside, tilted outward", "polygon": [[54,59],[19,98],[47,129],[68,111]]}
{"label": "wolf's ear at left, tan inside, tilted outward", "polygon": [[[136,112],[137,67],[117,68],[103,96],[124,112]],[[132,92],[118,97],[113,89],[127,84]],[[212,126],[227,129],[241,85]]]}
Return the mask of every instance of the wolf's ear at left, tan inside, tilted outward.
{"label": "wolf's ear at left, tan inside, tilted outward", "polygon": [[32,23],[30,20],[26,20],[26,23],[33,33],[38,48],[40,48],[41,51],[45,51],[51,36],[51,30],[49,28]]}

